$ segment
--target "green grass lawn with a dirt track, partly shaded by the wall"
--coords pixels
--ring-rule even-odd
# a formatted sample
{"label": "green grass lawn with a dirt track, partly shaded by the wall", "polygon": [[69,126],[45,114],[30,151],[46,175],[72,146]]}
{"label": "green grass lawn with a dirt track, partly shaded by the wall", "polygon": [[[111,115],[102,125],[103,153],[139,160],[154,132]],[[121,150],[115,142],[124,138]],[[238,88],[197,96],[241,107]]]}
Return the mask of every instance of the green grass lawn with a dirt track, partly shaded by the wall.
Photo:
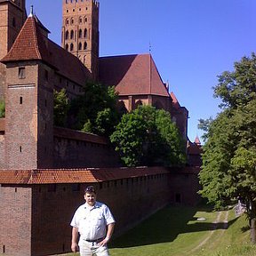
{"label": "green grass lawn with a dirt track, partly shaded by the wall", "polygon": [[236,218],[233,210],[169,206],[113,240],[109,251],[111,256],[256,256],[249,232],[245,216]]}

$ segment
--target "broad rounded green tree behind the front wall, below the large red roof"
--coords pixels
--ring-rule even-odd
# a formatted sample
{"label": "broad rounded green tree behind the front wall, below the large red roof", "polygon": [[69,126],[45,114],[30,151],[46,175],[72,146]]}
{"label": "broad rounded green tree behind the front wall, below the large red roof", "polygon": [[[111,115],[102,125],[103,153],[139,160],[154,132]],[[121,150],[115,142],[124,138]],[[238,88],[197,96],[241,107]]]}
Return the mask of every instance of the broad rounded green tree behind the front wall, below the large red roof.
{"label": "broad rounded green tree behind the front wall, below the large red roof", "polygon": [[126,166],[184,164],[184,141],[169,113],[140,106],[110,136]]}

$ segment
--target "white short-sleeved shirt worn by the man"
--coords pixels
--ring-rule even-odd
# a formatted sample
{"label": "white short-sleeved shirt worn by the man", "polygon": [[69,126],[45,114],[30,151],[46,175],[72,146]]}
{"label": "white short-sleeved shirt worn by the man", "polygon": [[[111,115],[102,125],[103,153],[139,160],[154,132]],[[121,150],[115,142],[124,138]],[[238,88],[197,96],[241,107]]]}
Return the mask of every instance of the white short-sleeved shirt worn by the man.
{"label": "white short-sleeved shirt worn by the man", "polygon": [[80,239],[97,240],[106,236],[108,224],[115,219],[106,204],[96,202],[93,207],[82,204],[76,210],[70,225],[78,228]]}

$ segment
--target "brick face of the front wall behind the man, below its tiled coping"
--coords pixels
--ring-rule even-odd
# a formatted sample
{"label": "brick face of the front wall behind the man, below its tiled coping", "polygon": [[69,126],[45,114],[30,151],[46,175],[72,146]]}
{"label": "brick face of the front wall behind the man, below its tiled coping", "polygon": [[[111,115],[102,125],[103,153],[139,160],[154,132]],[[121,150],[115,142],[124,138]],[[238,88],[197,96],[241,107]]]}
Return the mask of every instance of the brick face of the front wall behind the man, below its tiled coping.
{"label": "brick face of the front wall behind the man, below its tiled coping", "polygon": [[[8,256],[70,252],[69,223],[76,208],[84,204],[84,188],[91,184],[97,188],[98,201],[107,204],[115,216],[114,236],[124,233],[166,204],[198,203],[198,170],[170,170],[166,173],[166,169],[158,169],[154,175],[94,184],[0,187],[0,216],[6,220],[0,228],[0,250]],[[6,235],[7,227],[12,231]]]}

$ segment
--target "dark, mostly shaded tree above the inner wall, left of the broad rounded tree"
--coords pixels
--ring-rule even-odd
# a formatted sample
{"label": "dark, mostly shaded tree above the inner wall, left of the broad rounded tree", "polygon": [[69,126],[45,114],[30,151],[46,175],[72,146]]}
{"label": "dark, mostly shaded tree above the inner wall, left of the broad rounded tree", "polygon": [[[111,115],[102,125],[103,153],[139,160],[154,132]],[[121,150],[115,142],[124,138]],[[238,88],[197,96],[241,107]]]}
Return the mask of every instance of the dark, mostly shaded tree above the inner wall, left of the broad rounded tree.
{"label": "dark, mostly shaded tree above the inner wall, left of the broad rounded tree", "polygon": [[70,114],[74,116],[72,128],[108,136],[119,120],[115,87],[87,83],[83,91],[71,101]]}

